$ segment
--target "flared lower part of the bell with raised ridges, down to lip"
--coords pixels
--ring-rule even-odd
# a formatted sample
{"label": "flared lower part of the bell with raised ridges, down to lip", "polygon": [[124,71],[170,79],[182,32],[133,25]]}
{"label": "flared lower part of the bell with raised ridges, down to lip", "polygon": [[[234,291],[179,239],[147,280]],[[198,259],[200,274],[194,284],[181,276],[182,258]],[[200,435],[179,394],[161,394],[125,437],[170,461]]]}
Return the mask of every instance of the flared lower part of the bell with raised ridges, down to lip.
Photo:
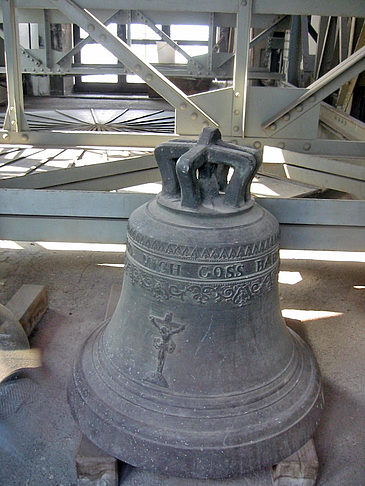
{"label": "flared lower part of the bell with raised ridges, down to lip", "polygon": [[323,408],[319,372],[293,331],[290,362],[265,390],[198,397],[123,375],[106,355],[106,324],[85,342],[68,398],[84,434],[111,455],[172,476],[224,479],[276,464],[312,437]]}

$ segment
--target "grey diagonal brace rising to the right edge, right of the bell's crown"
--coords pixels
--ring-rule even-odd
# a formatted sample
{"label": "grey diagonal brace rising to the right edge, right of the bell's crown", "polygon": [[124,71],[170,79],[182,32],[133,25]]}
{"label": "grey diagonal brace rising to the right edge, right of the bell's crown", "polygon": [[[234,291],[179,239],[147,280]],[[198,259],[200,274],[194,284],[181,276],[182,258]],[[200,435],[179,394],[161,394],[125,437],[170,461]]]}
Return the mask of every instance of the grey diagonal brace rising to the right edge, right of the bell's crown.
{"label": "grey diagonal brace rising to the right edge, right of the bell's crown", "polygon": [[274,135],[364,70],[365,46],[317,79],[308,86],[306,93],[282,108],[262,126],[268,134]]}

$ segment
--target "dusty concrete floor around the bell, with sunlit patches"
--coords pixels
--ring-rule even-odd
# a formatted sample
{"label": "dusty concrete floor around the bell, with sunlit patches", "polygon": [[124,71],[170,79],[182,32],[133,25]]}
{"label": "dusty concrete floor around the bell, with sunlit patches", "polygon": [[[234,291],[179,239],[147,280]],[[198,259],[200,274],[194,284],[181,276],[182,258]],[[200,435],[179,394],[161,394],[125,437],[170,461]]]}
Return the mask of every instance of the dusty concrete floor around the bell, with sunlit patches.
{"label": "dusty concrete floor around the bell, with sunlit patches", "polygon": [[[121,264],[123,254],[21,245],[24,249],[0,250],[0,302],[23,283],[43,284],[49,311],[31,337],[32,346],[42,350],[43,367],[19,378],[28,399],[17,396],[0,416],[0,485],[68,486],[76,479],[80,436],[67,406],[66,383],[79,344],[103,319],[109,289],[122,277],[120,267],[102,264]],[[364,486],[365,288],[354,287],[365,286],[365,265],[283,260],[281,270],[302,277],[295,285],[281,284],[283,309],[338,313],[299,324],[318,359],[326,396],[315,437],[318,485]],[[0,400],[11,396],[9,386],[2,390]]]}

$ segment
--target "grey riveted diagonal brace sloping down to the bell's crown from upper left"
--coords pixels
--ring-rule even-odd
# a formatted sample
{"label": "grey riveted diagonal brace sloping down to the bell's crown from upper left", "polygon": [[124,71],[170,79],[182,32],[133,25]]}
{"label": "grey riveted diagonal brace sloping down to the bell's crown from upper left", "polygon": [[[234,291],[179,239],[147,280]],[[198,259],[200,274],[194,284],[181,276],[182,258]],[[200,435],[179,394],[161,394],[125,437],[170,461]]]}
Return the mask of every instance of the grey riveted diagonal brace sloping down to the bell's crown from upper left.
{"label": "grey riveted diagonal brace sloping down to the bell's crown from upper left", "polygon": [[179,88],[163,76],[151,64],[140,59],[122,39],[111,34],[105,25],[88,10],[71,0],[51,0],[72,22],[77,23],[99,44],[104,46],[128,69],[140,76],[177,110],[189,110],[191,124],[197,129],[203,126],[218,126],[198,105],[192,102]]}

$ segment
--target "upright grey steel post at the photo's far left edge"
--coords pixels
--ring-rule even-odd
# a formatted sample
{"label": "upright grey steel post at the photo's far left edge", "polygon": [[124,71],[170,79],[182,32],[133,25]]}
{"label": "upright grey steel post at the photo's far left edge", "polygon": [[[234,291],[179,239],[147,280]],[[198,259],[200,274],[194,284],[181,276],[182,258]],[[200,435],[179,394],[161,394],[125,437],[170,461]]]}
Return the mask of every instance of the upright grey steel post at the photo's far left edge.
{"label": "upright grey steel post at the photo's far left edge", "polygon": [[14,0],[2,0],[8,108],[4,129],[12,132],[28,130],[24,116],[22,74],[20,67],[18,24]]}

